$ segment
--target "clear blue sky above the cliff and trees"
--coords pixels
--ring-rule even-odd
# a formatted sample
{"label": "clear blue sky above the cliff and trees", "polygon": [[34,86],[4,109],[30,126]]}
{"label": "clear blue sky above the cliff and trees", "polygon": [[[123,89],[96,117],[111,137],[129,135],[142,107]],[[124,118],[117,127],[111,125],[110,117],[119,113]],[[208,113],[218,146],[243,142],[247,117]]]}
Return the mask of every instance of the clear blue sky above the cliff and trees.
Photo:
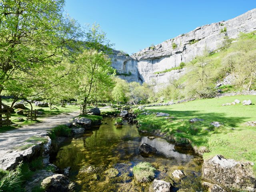
{"label": "clear blue sky above the cliff and trees", "polygon": [[129,54],[256,8],[256,0],[66,0],[81,26],[100,24],[116,50]]}

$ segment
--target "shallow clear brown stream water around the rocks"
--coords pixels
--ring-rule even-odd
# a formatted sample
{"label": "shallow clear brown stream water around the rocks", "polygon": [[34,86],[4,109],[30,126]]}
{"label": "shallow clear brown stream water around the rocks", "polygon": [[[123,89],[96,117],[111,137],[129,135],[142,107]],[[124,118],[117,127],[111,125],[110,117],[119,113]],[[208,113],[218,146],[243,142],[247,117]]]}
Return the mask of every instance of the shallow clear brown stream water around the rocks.
{"label": "shallow clear brown stream water around the rocks", "polygon": [[[191,150],[184,150],[162,138],[150,140],[141,136],[135,125],[124,122],[114,126],[114,118],[105,118],[103,124],[83,135],[68,138],[60,148],[53,163],[60,167],[71,167],[70,178],[76,183],[76,191],[86,192],[132,192],[148,191],[150,183],[139,184],[133,179],[132,167],[138,162],[150,162],[156,169],[155,178],[172,182],[172,172],[183,170],[186,177],[175,182],[173,191],[204,191],[200,186],[202,158]],[[158,151],[156,155],[143,157],[138,150],[142,143],[150,144]],[[79,173],[82,166],[91,165],[97,172]],[[116,168],[115,178],[108,178],[104,171]]]}

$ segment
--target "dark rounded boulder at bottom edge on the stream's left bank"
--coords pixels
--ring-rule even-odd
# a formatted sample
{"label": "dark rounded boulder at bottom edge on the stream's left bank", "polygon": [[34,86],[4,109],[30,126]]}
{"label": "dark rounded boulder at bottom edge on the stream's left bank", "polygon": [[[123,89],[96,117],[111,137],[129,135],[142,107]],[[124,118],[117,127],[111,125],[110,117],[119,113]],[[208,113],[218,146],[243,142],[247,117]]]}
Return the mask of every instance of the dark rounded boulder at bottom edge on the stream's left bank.
{"label": "dark rounded boulder at bottom edge on the stream's left bank", "polygon": [[70,181],[68,177],[62,174],[54,174],[53,176],[49,176],[45,178],[41,186],[45,189],[46,192],[68,192],[69,191]]}

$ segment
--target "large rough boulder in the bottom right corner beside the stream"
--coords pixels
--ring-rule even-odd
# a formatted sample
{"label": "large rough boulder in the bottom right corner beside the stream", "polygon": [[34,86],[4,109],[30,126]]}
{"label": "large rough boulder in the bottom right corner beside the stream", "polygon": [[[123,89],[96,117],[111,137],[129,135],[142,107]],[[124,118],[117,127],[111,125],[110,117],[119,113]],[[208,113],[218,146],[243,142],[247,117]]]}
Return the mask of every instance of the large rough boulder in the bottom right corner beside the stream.
{"label": "large rough boulder in the bottom right corner beside the stream", "polygon": [[204,162],[202,172],[203,180],[224,189],[256,191],[256,176],[250,162],[238,162],[216,155]]}

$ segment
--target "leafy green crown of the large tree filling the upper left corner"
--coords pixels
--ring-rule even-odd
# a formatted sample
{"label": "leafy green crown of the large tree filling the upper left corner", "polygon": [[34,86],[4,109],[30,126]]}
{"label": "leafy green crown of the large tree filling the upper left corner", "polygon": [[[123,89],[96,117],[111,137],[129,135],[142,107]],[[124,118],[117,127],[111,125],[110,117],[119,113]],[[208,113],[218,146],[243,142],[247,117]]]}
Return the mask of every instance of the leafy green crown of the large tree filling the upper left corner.
{"label": "leafy green crown of the large tree filling the upper left corner", "polygon": [[74,52],[82,32],[63,17],[63,7],[64,0],[0,2],[0,106],[2,92],[13,90],[10,84],[28,81],[42,66],[55,66]]}

